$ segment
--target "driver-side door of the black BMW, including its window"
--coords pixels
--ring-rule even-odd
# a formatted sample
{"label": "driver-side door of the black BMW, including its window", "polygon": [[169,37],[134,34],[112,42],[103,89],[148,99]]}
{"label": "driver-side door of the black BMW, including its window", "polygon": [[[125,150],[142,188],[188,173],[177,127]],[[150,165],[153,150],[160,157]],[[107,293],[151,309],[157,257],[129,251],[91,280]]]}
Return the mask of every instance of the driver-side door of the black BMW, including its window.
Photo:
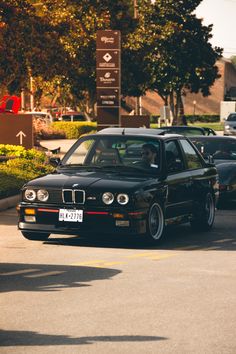
{"label": "driver-side door of the black BMW, including its window", "polygon": [[166,218],[187,215],[192,209],[192,176],[186,169],[183,151],[178,139],[167,140],[165,160],[168,186],[166,202]]}

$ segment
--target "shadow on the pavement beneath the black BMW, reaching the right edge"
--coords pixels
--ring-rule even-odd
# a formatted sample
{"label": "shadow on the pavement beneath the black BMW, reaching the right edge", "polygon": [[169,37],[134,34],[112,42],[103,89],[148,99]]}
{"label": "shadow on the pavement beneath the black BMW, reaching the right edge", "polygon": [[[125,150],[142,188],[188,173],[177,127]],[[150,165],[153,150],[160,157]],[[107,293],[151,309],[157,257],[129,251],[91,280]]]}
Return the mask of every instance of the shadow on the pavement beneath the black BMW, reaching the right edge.
{"label": "shadow on the pavement beneath the black BMW, reaching the right edge", "polygon": [[209,232],[194,231],[190,224],[168,227],[165,237],[158,244],[151,244],[143,236],[96,234],[96,236],[52,235],[44,244],[77,247],[121,248],[121,249],[164,249],[164,250],[236,250],[235,212],[228,214],[230,222],[225,221],[225,212],[217,211],[214,227]]}

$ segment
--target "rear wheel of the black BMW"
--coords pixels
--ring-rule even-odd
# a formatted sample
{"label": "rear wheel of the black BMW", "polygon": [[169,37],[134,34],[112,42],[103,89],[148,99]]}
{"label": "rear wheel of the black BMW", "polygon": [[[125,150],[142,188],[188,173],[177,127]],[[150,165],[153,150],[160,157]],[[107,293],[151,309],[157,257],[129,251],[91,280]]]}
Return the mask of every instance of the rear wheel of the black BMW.
{"label": "rear wheel of the black BMW", "polygon": [[198,231],[209,231],[215,219],[215,202],[212,193],[207,193],[204,201],[196,208],[197,211],[191,220],[191,226]]}

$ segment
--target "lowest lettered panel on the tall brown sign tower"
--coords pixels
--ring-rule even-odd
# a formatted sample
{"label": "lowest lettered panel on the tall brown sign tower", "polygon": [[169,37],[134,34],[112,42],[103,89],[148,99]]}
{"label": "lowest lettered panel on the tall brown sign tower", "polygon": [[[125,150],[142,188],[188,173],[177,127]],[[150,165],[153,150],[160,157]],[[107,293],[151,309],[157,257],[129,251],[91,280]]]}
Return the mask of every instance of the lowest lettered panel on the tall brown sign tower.
{"label": "lowest lettered panel on the tall brown sign tower", "polygon": [[98,88],[97,89],[97,107],[119,107],[120,91],[119,89]]}

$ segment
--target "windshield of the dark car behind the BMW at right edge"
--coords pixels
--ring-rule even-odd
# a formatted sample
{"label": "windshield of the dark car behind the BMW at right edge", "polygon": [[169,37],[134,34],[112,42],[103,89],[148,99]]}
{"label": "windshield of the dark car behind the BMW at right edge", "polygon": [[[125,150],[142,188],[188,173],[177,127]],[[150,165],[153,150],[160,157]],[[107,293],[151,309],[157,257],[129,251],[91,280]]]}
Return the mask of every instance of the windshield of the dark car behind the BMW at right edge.
{"label": "windshield of the dark car behind the BMW at right edge", "polygon": [[236,139],[191,139],[198,150],[214,159],[236,160]]}

